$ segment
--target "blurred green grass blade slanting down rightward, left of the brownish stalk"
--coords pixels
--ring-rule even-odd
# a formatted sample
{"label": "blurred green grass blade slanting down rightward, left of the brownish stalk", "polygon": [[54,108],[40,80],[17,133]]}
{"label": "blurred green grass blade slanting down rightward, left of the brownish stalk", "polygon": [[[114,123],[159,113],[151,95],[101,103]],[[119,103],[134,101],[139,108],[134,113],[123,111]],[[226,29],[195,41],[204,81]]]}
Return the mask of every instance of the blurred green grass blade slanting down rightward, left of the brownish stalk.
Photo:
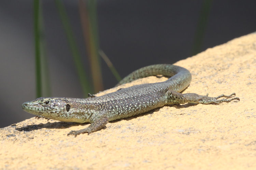
{"label": "blurred green grass blade slanting down rightward, left of the brownish stalk", "polygon": [[58,9],[58,12],[59,12],[64,30],[65,30],[65,33],[66,33],[66,36],[67,36],[67,39],[68,39],[68,42],[69,42],[69,46],[70,46],[70,49],[71,49],[71,52],[72,52],[72,55],[73,55],[74,63],[75,63],[75,66],[76,66],[77,74],[79,76],[80,84],[81,84],[82,89],[83,89],[84,96],[87,96],[88,91],[91,92],[91,88],[90,88],[90,85],[88,83],[88,78],[85,74],[85,69],[82,65],[82,60],[81,60],[81,56],[79,54],[78,47],[77,47],[77,45],[75,43],[75,40],[74,40],[74,36],[73,36],[73,32],[71,30],[71,26],[70,26],[70,22],[69,22],[69,19],[68,19],[68,16],[67,16],[67,12],[65,10],[65,7],[64,7],[62,1],[55,0],[55,4],[57,6],[57,9]]}

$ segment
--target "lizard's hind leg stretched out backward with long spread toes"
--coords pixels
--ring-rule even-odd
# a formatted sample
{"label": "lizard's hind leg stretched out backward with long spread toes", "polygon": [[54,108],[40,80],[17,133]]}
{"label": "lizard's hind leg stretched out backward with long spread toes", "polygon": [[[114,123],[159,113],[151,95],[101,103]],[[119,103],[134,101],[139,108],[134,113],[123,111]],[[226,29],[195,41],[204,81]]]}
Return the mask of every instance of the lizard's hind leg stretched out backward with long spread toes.
{"label": "lizard's hind leg stretched out backward with long spread toes", "polygon": [[[182,94],[176,91],[167,91],[167,100],[168,104],[181,104],[181,103],[201,103],[201,104],[219,104],[222,102],[230,102],[232,100],[238,100],[240,99],[238,97],[235,97],[236,94],[232,93],[231,95],[220,95],[218,97],[208,97],[208,94],[205,96],[198,95],[196,93],[186,93]],[[226,99],[219,99],[221,97],[224,97]],[[232,98],[233,97],[233,98]]]}

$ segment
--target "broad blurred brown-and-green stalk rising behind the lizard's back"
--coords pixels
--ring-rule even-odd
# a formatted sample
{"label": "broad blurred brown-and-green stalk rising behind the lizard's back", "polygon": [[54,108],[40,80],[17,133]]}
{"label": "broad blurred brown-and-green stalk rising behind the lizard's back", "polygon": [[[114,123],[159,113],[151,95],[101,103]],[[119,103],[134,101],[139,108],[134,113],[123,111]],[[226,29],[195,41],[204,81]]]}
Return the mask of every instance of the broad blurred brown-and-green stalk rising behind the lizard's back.
{"label": "broad blurred brown-and-green stalk rising behind the lizard's back", "polygon": [[97,23],[97,4],[95,0],[79,0],[80,18],[86,44],[86,51],[89,56],[90,68],[93,78],[95,92],[103,90],[101,66],[98,55],[98,23]]}

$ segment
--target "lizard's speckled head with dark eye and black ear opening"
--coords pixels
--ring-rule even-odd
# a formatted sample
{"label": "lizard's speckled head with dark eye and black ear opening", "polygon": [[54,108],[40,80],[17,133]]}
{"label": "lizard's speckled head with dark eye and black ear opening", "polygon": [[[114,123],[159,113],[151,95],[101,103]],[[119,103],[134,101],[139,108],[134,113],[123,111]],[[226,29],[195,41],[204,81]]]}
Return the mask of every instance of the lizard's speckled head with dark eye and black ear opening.
{"label": "lizard's speckled head with dark eye and black ear opening", "polygon": [[48,119],[58,120],[70,110],[67,98],[38,98],[22,104],[22,109],[33,115],[40,115]]}

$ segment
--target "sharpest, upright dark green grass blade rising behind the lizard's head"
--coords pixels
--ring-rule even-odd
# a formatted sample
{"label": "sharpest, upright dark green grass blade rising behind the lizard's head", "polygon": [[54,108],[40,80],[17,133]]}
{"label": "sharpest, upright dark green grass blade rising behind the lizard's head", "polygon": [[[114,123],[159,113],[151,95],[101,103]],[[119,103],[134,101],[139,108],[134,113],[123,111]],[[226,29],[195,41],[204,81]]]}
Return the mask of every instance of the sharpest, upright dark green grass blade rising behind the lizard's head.
{"label": "sharpest, upright dark green grass blade rising behind the lizard's head", "polygon": [[42,96],[39,0],[34,0],[35,79],[37,98]]}

